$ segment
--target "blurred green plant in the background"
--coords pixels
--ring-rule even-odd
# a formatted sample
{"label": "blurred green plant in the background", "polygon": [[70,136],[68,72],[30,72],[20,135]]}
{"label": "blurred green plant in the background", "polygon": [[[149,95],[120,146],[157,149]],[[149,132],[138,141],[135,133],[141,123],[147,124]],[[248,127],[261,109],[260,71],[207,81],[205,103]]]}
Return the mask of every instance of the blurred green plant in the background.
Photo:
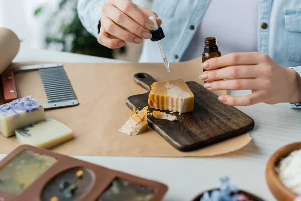
{"label": "blurred green plant in the background", "polygon": [[[81,24],[77,15],[77,0],[60,0],[58,9],[52,12],[44,25],[46,33],[44,42],[46,48],[59,45],[64,52],[86,54],[92,56],[113,58],[113,52],[125,52],[125,47],[112,50],[100,45]],[[39,6],[34,11],[34,16],[39,17],[47,7]],[[66,10],[68,10],[66,12]],[[68,14],[67,16],[64,14]],[[62,19],[63,18],[63,19]],[[65,18],[65,19],[64,19]],[[68,18],[66,20],[66,18]],[[56,27],[56,28],[55,28]],[[55,30],[53,29],[55,28]]]}

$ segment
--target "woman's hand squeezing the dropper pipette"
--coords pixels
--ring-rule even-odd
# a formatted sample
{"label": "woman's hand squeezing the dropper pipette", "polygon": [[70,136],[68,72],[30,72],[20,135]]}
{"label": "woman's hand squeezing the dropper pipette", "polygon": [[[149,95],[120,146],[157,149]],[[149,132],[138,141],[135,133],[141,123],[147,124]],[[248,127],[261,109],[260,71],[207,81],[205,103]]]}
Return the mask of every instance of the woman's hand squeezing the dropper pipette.
{"label": "woman's hand squeezing the dropper pipette", "polygon": [[101,27],[98,42],[108,48],[120,48],[126,42],[140,44],[142,39],[150,39],[155,16],[158,26],[161,20],[157,14],[140,7],[130,0],[110,0],[102,6]]}

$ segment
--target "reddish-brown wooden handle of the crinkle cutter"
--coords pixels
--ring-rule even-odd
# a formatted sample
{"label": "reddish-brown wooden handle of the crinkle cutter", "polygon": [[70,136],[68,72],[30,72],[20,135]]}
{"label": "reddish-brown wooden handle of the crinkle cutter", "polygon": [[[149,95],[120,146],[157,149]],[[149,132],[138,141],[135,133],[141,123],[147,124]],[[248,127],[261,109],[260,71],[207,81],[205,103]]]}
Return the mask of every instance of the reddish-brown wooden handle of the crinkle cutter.
{"label": "reddish-brown wooden handle of the crinkle cutter", "polygon": [[3,100],[4,103],[11,102],[18,98],[14,73],[12,71],[4,71],[1,74],[2,86],[3,86]]}

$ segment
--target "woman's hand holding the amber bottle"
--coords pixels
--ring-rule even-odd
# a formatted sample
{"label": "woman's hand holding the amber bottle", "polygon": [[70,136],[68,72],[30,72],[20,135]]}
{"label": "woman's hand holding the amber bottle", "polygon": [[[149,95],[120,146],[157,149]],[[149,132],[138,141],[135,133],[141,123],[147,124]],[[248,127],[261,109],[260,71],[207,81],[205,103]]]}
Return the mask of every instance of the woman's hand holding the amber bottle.
{"label": "woman's hand holding the amber bottle", "polygon": [[[301,78],[295,70],[274,62],[259,52],[231,53],[205,61],[200,79],[209,90],[252,90],[241,97],[221,95],[228,105],[247,106],[259,102],[301,102]],[[226,79],[226,80],[224,80]]]}

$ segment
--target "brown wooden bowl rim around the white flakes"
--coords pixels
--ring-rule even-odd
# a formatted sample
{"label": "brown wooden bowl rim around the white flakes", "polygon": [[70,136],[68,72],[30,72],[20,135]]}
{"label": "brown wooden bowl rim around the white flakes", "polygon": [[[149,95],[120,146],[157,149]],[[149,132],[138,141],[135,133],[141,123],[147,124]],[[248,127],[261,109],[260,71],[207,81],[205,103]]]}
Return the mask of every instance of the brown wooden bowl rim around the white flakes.
{"label": "brown wooden bowl rim around the white flakes", "polygon": [[282,158],[285,158],[292,151],[301,149],[301,142],[286,145],[278,149],[268,160],[266,165],[265,178],[267,185],[278,201],[293,201],[298,195],[287,188],[279,179],[275,171],[275,166],[278,165]]}

